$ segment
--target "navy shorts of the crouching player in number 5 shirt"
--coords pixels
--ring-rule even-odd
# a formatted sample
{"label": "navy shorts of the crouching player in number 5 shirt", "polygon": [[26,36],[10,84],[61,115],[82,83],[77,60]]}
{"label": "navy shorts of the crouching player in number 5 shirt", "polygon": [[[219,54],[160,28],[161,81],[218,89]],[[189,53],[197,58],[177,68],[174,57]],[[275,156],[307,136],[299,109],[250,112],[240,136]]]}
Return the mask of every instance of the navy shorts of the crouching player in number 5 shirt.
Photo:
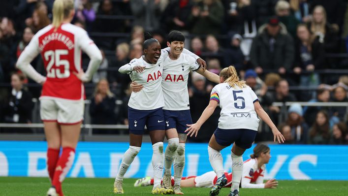
{"label": "navy shorts of the crouching player in number 5 shirt", "polygon": [[248,129],[223,130],[217,128],[214,131],[216,142],[221,146],[229,146],[235,142],[238,147],[243,149],[252,147],[256,133],[257,131]]}

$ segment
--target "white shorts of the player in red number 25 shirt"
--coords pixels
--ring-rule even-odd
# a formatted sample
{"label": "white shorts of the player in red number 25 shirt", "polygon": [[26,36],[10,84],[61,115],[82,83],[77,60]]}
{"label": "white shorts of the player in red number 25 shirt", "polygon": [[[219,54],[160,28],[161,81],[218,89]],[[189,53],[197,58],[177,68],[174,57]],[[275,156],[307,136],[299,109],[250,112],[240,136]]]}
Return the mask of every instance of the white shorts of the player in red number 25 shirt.
{"label": "white shorts of the player in red number 25 shirt", "polygon": [[85,103],[83,100],[40,99],[42,121],[57,121],[59,124],[77,124],[83,120]]}

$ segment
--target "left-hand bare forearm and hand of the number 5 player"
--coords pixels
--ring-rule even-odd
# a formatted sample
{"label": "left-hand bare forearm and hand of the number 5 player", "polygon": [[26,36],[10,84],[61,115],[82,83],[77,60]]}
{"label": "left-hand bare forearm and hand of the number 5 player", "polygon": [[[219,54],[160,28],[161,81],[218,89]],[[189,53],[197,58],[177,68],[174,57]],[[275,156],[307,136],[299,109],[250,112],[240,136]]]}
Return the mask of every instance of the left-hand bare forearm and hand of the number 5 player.
{"label": "left-hand bare forearm and hand of the number 5 player", "polygon": [[199,117],[198,121],[192,125],[186,125],[189,128],[185,132],[187,132],[187,134],[190,135],[190,137],[192,137],[192,135],[196,137],[200,127],[213,114],[217,106],[218,102],[216,100],[211,100],[209,102],[209,105],[204,109],[202,115]]}

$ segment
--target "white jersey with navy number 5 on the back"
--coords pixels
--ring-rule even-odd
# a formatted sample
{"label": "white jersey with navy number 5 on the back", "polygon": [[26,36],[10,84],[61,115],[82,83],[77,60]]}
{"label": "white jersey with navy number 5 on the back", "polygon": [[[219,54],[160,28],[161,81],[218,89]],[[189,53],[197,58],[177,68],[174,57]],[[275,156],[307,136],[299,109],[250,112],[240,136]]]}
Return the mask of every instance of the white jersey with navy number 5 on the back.
{"label": "white jersey with navy number 5 on the back", "polygon": [[221,107],[220,129],[249,129],[257,131],[257,118],[253,103],[258,100],[253,90],[248,86],[231,87],[228,83],[216,85],[210,100],[216,100]]}

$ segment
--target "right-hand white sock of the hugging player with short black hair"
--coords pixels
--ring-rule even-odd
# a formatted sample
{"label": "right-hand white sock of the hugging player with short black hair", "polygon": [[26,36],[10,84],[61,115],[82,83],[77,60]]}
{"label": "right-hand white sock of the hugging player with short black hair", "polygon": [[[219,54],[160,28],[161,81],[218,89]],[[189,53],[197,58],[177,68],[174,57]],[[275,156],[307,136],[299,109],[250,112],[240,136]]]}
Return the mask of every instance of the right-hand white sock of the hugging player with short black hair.
{"label": "right-hand white sock of the hugging player with short black hair", "polygon": [[185,167],[185,143],[179,143],[174,159],[174,186],[181,183]]}

